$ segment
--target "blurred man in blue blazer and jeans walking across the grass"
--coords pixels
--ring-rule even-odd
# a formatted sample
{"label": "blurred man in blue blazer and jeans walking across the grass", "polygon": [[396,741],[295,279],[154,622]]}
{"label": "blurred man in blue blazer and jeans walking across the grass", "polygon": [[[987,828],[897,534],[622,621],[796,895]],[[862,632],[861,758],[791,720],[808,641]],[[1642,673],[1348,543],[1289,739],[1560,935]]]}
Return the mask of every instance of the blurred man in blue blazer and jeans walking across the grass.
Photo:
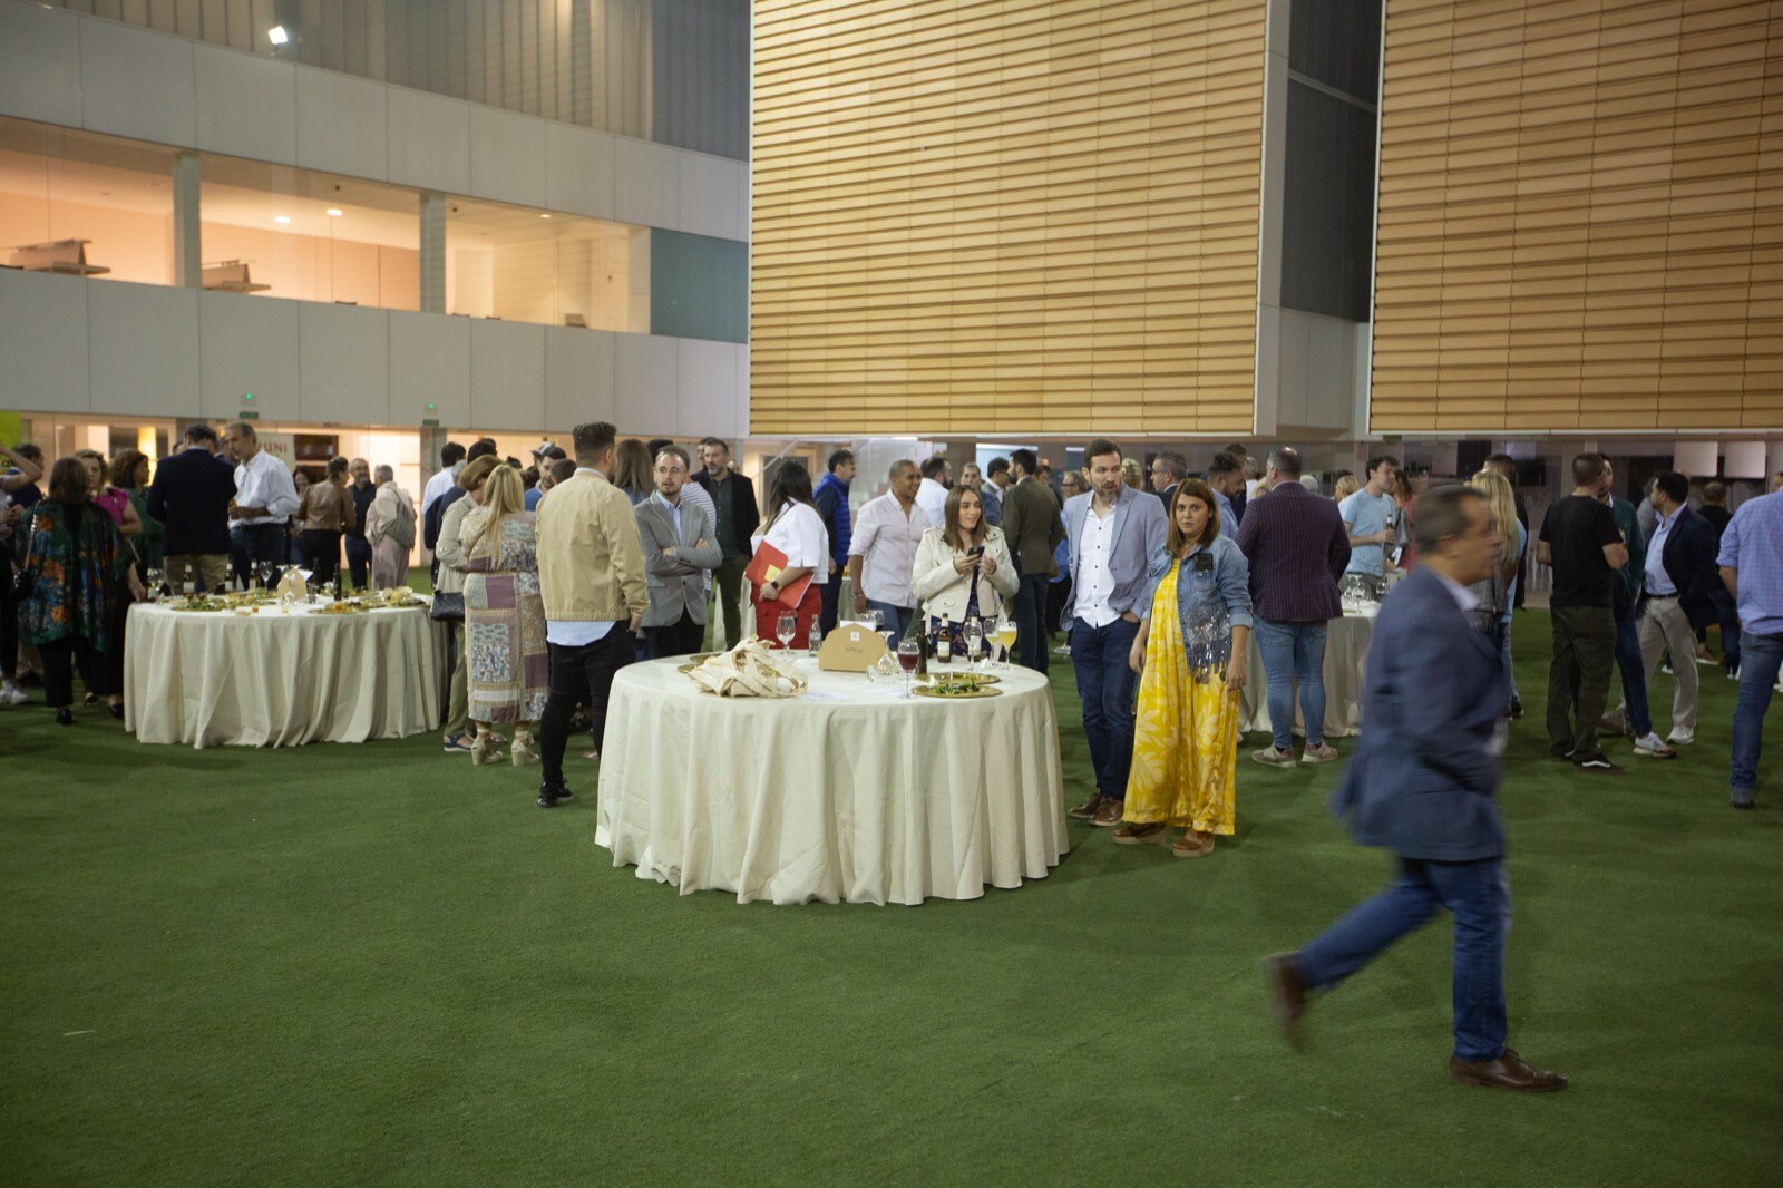
{"label": "blurred man in blue blazer and jeans walking across the grass", "polygon": [[1362,846],[1398,854],[1398,879],[1300,953],[1266,961],[1289,1042],[1312,990],[1334,986],[1437,906],[1455,917],[1455,1052],[1462,1085],[1544,1092],[1565,1077],[1505,1047],[1510,887],[1498,819],[1498,755],[1510,697],[1503,662],[1475,630],[1467,589],[1492,576],[1498,526],[1482,494],[1444,487],[1417,501],[1417,569],[1387,596],[1368,651],[1362,742],[1332,808]]}

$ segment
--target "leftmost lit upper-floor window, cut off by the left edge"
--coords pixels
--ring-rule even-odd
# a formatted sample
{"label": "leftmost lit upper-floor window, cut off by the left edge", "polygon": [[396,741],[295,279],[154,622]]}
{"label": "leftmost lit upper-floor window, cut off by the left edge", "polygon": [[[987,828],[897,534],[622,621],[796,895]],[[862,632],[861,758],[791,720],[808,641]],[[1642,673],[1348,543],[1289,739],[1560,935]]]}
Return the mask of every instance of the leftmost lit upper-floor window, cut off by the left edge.
{"label": "leftmost lit upper-floor window, cut off by the left edge", "polygon": [[171,148],[0,118],[0,264],[173,284],[173,162]]}

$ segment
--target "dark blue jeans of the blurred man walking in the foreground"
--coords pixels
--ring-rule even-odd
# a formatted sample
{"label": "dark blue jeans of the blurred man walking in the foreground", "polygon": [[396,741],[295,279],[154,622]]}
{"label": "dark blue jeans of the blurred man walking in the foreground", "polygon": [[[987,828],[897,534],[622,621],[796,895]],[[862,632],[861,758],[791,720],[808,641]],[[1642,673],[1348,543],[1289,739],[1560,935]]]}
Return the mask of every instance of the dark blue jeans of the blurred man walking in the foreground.
{"label": "dark blue jeans of the blurred man walking in the foreground", "polygon": [[1400,878],[1357,904],[1300,951],[1307,986],[1334,986],[1405,933],[1435,915],[1455,917],[1455,1056],[1498,1060],[1505,1051],[1505,942],[1510,938],[1510,883],[1500,858],[1426,862],[1400,858]]}

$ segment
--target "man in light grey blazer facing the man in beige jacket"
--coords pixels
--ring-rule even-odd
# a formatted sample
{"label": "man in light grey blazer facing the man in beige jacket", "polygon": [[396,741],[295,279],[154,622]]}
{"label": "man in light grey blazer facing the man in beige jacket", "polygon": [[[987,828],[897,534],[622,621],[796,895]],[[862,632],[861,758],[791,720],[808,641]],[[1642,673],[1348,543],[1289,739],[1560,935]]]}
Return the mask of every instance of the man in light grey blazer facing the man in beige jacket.
{"label": "man in light grey blazer facing the man in beige jacket", "polygon": [[663,446],[656,453],[656,492],[633,510],[651,589],[644,612],[651,658],[699,651],[706,640],[706,574],[724,562],[704,508],[681,498],[690,469],[681,446]]}

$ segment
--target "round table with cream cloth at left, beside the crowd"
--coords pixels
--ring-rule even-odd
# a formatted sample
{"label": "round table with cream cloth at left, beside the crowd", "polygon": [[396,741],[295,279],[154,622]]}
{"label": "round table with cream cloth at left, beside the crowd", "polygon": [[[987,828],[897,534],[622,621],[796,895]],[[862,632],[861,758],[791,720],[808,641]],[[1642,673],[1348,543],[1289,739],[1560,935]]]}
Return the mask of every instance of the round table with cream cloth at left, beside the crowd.
{"label": "round table with cream cloth at left, beside the crowd", "polygon": [[426,606],[237,615],[137,603],[125,639],[125,728],[137,742],[285,747],[440,722],[444,631]]}

